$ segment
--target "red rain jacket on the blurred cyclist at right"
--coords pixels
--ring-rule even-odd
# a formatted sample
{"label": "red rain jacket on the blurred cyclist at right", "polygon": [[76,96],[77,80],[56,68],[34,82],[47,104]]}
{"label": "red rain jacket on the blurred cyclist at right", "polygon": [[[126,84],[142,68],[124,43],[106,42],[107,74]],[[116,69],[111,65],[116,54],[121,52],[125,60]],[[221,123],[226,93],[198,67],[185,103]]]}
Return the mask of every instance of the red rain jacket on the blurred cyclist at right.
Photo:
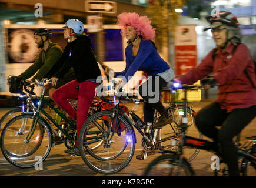
{"label": "red rain jacket on the blurred cyclist at right", "polygon": [[[218,85],[216,102],[227,112],[256,105],[256,75],[250,51],[243,43],[237,46],[234,53],[233,48],[234,45],[230,44],[225,52],[218,49],[214,60],[212,49],[198,66],[178,78],[183,84],[193,84],[212,72]],[[254,86],[244,71],[247,71]]]}

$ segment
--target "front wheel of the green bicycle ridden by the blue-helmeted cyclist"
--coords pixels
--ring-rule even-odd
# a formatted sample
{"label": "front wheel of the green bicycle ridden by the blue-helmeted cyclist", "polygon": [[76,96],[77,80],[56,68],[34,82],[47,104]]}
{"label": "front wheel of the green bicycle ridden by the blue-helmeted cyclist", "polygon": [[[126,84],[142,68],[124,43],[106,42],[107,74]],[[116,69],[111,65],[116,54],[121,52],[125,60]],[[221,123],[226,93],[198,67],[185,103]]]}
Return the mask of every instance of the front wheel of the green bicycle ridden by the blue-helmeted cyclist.
{"label": "front wheel of the green bicycle ridden by the blue-helmeted cyclist", "polygon": [[[29,142],[25,142],[25,138],[31,130],[30,122],[33,118],[35,118],[33,115],[16,116],[11,119],[2,130],[0,138],[2,153],[5,159],[16,167],[35,167],[36,164],[43,162],[51,151],[51,127],[49,127],[42,117],[38,119],[38,125],[36,125],[34,136],[32,135],[31,137],[32,139]],[[19,123],[19,120],[24,122],[24,119],[25,126],[20,128],[21,123]],[[10,139],[14,141],[9,141]],[[23,150],[25,150],[25,152]],[[39,159],[39,161],[36,159]]]}

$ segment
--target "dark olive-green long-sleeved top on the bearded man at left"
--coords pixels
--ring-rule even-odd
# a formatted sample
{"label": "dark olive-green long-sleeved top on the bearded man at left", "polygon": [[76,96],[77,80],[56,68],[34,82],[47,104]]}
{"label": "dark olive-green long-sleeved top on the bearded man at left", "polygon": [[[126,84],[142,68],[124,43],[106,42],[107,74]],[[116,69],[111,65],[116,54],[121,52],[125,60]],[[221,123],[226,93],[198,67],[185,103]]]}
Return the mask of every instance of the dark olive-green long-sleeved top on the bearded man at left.
{"label": "dark olive-green long-sleeved top on the bearded man at left", "polygon": [[[29,66],[29,68],[19,76],[21,76],[23,79],[28,79],[39,70],[32,80],[46,78],[47,73],[51,71],[52,67],[55,65],[61,55],[61,47],[57,43],[52,43],[50,41],[46,51],[42,50],[38,59],[36,59],[33,65]],[[54,73],[56,73],[56,71]]]}

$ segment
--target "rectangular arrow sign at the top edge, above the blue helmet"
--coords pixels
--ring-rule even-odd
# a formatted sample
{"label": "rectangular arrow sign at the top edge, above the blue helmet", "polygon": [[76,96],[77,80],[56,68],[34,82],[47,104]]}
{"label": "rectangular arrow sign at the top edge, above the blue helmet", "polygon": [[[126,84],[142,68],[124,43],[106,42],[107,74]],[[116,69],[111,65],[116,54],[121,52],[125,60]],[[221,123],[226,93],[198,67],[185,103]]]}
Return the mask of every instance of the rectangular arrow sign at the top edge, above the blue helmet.
{"label": "rectangular arrow sign at the top edge, above the blue helmet", "polygon": [[116,13],[117,3],[114,1],[85,1],[86,12]]}

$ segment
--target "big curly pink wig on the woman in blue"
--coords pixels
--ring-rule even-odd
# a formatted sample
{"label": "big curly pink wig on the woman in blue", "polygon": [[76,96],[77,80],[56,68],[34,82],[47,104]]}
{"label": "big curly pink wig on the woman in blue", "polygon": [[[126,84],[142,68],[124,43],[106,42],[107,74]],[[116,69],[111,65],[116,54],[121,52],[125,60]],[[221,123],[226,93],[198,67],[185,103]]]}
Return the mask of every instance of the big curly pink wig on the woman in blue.
{"label": "big curly pink wig on the woman in blue", "polygon": [[125,35],[127,25],[130,25],[135,29],[137,35],[151,40],[155,38],[155,28],[152,28],[150,23],[147,16],[139,16],[136,12],[122,12],[117,16],[117,24],[121,27],[122,35]]}

